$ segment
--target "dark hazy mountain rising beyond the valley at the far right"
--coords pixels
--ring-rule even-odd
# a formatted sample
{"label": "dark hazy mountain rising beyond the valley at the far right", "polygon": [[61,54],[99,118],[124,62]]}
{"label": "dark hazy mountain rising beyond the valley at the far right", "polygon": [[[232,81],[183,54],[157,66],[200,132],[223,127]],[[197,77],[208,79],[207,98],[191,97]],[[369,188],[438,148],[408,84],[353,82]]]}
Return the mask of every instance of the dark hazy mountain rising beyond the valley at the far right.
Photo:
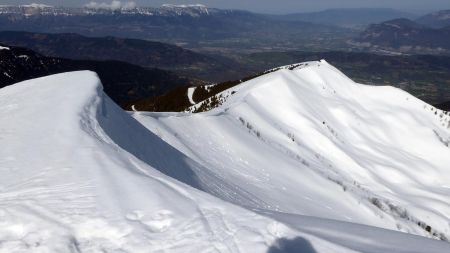
{"label": "dark hazy mountain rising beyond the valley at the far right", "polygon": [[373,52],[450,53],[450,26],[430,28],[409,19],[370,25],[353,44]]}

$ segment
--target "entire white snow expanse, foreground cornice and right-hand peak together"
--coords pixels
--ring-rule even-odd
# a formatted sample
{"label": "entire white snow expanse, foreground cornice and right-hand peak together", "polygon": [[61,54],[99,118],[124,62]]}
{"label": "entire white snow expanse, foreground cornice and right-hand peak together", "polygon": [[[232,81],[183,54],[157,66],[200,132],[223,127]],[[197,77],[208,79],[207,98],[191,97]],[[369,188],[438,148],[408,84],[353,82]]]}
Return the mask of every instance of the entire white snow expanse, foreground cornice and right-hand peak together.
{"label": "entire white snow expanse, foreground cornice and right-hand peak together", "polygon": [[450,251],[447,116],[325,62],[232,91],[130,116],[88,71],[1,89],[0,252]]}

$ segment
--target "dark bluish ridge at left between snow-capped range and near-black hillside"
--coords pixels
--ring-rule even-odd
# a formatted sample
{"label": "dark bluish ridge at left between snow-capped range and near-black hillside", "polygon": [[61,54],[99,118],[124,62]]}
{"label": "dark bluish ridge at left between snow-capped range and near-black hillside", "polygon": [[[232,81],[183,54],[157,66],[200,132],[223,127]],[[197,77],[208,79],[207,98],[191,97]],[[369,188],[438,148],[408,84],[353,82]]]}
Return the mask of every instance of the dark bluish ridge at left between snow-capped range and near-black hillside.
{"label": "dark bluish ridge at left between snow-capped range and near-black hillside", "polygon": [[242,72],[225,57],[207,56],[181,47],[147,40],[85,37],[78,34],[0,32],[0,42],[52,57],[77,60],[117,60],[146,68],[162,68],[209,81],[224,81]]}

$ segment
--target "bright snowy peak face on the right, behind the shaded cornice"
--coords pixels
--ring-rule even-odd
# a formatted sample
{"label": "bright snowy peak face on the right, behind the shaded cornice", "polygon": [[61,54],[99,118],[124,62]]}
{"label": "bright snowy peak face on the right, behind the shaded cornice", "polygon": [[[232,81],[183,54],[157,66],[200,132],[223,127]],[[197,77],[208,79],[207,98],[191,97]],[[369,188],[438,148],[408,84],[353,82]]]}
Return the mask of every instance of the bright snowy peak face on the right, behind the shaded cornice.
{"label": "bright snowy peak face on the right, behind the shaded cornice", "polygon": [[238,185],[210,191],[230,202],[450,239],[444,112],[393,87],[354,83],[325,61],[281,68],[219,97],[207,113],[134,117]]}

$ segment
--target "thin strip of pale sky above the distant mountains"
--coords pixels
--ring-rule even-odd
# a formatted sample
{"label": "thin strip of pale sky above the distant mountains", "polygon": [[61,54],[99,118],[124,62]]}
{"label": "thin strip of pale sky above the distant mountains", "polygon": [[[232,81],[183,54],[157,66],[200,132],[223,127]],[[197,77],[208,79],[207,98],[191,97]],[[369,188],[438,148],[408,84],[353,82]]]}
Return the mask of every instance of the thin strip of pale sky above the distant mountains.
{"label": "thin strip of pale sky above the distant mountains", "polygon": [[[0,4],[29,4],[32,2],[56,6],[83,6],[91,0],[0,0]],[[108,3],[112,0],[92,0]],[[450,9],[450,0],[121,0],[133,1],[138,6],[160,6],[172,4],[205,4],[208,7],[244,9],[264,13],[294,13],[317,11],[330,8],[395,8],[414,12],[428,12]]]}

